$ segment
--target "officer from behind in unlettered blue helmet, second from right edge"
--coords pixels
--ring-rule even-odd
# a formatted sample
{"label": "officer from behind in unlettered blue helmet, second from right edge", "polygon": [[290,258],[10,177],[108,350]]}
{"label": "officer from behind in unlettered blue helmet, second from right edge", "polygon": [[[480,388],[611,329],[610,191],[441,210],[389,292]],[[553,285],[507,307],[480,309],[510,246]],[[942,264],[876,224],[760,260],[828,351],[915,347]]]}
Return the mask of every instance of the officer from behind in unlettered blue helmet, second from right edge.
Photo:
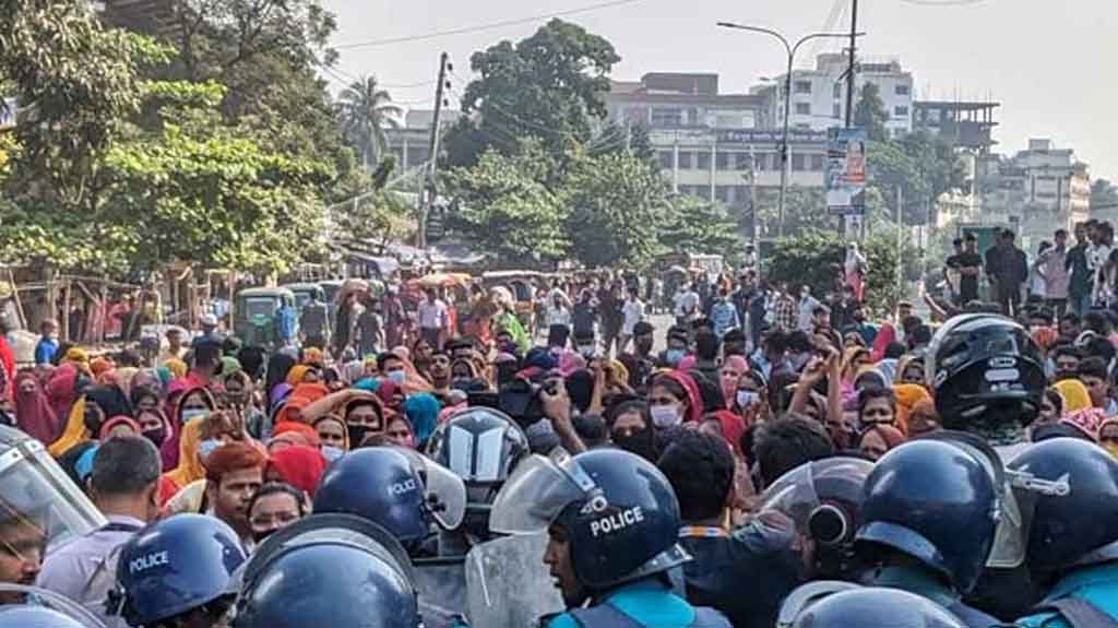
{"label": "officer from behind in unlettered blue helmet, second from right edge", "polygon": [[970,451],[916,440],[885,454],[865,479],[859,558],[871,583],[917,593],[972,628],[998,624],[965,605],[994,543],[999,486]]}

